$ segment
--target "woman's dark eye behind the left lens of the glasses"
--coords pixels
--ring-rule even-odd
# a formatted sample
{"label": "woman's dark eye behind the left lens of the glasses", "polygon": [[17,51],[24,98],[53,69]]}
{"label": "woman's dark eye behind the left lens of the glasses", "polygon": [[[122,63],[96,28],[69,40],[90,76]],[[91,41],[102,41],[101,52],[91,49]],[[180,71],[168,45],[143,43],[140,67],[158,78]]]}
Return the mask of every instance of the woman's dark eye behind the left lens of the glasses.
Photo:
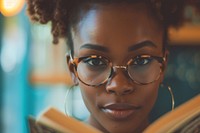
{"label": "woman's dark eye behind the left lens of the glasses", "polygon": [[106,61],[101,58],[86,58],[83,60],[84,63],[87,63],[90,66],[105,66],[107,65]]}

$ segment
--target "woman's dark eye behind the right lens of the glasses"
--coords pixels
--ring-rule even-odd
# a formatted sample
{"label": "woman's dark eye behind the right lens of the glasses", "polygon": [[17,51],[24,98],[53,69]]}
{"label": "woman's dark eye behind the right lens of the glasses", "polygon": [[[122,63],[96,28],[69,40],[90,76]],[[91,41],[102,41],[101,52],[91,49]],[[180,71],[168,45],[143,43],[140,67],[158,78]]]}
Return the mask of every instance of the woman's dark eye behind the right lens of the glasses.
{"label": "woman's dark eye behind the right lens of the glasses", "polygon": [[137,57],[133,60],[133,65],[147,65],[152,61],[151,57]]}

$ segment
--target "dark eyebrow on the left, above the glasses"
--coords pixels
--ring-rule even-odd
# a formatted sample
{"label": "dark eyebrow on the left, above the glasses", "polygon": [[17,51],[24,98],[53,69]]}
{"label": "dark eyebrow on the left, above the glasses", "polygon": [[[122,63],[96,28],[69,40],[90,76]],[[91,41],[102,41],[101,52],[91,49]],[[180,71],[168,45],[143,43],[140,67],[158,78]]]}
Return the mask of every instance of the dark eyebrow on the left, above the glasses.
{"label": "dark eyebrow on the left, above the glasses", "polygon": [[87,48],[87,49],[94,49],[102,52],[109,52],[110,50],[106,47],[100,46],[98,44],[84,44],[80,47],[80,49]]}

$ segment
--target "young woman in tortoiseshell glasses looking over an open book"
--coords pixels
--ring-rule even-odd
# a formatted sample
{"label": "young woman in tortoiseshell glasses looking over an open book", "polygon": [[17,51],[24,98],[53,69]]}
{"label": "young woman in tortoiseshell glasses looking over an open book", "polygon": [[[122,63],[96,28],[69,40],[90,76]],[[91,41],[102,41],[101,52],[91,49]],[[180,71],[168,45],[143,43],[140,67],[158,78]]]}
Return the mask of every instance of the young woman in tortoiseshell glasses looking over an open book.
{"label": "young woman in tortoiseshell glasses looking over an open book", "polygon": [[167,28],[179,26],[183,0],[28,0],[30,18],[66,38],[67,63],[102,132],[148,125],[167,64]]}

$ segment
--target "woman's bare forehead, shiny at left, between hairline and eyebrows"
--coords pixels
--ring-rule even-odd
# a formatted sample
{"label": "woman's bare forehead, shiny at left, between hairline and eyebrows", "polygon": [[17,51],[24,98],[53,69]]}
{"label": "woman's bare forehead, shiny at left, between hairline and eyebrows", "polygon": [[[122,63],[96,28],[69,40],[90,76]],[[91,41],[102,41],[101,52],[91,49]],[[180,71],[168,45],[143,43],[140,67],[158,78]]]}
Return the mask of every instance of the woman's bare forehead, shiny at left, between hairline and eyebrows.
{"label": "woman's bare forehead, shiny at left, between hairline and eyebrows", "polygon": [[75,51],[85,43],[122,50],[145,40],[162,47],[161,25],[144,3],[95,5],[84,14],[73,36]]}

